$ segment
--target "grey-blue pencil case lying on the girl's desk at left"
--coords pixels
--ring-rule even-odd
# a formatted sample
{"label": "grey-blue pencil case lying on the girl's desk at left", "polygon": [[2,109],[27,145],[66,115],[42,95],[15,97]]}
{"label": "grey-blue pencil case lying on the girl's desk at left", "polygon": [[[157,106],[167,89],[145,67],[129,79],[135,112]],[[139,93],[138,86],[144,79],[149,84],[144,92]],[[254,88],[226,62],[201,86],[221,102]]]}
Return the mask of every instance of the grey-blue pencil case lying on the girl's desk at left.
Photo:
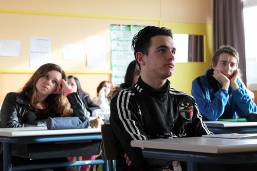
{"label": "grey-blue pencil case lying on the girl's desk at left", "polygon": [[87,117],[47,118],[47,129],[80,129],[90,125]]}

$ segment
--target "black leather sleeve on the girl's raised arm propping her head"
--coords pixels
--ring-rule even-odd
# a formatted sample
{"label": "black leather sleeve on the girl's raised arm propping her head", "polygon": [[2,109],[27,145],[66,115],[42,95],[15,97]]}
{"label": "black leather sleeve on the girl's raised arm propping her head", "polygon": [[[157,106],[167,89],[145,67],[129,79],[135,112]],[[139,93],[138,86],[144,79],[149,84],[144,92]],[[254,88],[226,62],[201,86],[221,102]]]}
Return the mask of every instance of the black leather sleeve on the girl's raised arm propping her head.
{"label": "black leather sleeve on the girl's raised arm propping her head", "polygon": [[79,95],[76,92],[69,93],[68,101],[70,103],[70,107],[73,109],[74,117],[85,117],[87,116],[87,111],[85,104],[79,98]]}

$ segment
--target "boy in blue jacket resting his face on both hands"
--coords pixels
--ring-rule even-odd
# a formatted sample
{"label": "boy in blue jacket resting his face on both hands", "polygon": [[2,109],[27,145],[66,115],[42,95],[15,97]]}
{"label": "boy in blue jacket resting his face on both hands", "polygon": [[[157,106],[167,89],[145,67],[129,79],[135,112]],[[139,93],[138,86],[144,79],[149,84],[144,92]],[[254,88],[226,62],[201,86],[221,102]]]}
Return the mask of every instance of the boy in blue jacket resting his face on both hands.
{"label": "boy in blue jacket resting his face on both hands", "polygon": [[192,83],[192,95],[204,120],[245,118],[257,111],[240,79],[238,52],[222,46],[214,54],[211,68]]}

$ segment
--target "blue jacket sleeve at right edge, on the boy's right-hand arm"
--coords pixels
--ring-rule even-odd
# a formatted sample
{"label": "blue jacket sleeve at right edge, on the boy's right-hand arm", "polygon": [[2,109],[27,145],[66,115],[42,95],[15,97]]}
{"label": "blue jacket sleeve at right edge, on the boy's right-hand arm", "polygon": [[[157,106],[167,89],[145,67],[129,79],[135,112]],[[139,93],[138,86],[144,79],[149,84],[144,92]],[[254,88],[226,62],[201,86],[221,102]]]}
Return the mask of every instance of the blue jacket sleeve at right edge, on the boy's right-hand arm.
{"label": "blue jacket sleeve at right edge, on the boy's right-hand arm", "polygon": [[237,104],[236,113],[240,118],[246,117],[247,113],[257,112],[256,104],[253,103],[249,97],[246,89],[242,86],[241,82],[237,80],[239,88],[233,90],[233,100]]}

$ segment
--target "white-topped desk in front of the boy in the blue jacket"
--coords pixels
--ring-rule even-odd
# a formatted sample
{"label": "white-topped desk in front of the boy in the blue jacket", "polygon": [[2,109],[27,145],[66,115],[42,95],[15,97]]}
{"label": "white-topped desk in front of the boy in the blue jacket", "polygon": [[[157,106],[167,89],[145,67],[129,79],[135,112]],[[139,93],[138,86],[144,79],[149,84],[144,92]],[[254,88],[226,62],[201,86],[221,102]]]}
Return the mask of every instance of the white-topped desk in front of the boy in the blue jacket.
{"label": "white-topped desk in front of the boy in the blue jacket", "polygon": [[214,134],[257,132],[257,122],[205,121],[205,124]]}

